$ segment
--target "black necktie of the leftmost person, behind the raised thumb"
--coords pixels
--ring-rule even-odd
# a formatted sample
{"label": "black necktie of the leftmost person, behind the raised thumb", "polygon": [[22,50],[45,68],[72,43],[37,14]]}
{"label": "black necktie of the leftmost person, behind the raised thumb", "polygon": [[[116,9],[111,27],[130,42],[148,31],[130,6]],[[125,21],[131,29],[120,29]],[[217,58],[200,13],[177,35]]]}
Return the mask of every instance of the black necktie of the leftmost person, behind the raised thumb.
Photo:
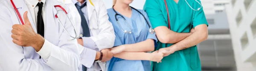
{"label": "black necktie of the leftmost person, behind the raised thumb", "polygon": [[[44,37],[44,21],[43,21],[43,16],[42,16],[42,8],[43,8],[44,3],[38,3],[38,16],[37,16],[37,32],[41,36]],[[41,56],[39,57],[41,58]]]}

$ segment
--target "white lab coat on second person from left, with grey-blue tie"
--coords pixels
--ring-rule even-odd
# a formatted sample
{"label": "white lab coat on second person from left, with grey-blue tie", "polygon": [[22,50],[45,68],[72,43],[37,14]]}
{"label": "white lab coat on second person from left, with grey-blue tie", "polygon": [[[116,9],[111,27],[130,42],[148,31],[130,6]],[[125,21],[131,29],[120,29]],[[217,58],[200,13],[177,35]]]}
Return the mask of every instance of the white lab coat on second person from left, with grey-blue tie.
{"label": "white lab coat on second person from left, with grey-blue tie", "polygon": [[[58,0],[58,1],[64,2],[70,8],[71,10],[70,14],[72,16],[76,16],[76,17],[73,17],[73,20],[76,23],[77,30],[80,30],[81,17],[72,0]],[[109,22],[108,20],[108,12],[103,1],[87,0],[87,13],[89,18],[89,28],[93,35],[90,38],[92,38],[92,40],[95,41],[99,50],[112,48],[116,36],[114,34],[112,23]],[[83,52],[83,50],[87,51],[86,53],[88,54],[90,54],[89,52],[93,52],[93,50],[83,46],[79,46],[79,50],[80,50],[79,51],[80,54],[81,52]],[[90,68],[92,65],[89,64],[90,63],[89,61],[91,60],[82,59],[82,58],[88,58],[88,57],[81,56],[81,63],[86,63],[83,65]],[[106,68],[105,63],[102,63],[99,61],[97,63],[99,63],[102,71],[105,71],[105,68]],[[87,69],[87,71],[90,71],[90,69]],[[94,69],[93,71],[96,71],[96,69]]]}

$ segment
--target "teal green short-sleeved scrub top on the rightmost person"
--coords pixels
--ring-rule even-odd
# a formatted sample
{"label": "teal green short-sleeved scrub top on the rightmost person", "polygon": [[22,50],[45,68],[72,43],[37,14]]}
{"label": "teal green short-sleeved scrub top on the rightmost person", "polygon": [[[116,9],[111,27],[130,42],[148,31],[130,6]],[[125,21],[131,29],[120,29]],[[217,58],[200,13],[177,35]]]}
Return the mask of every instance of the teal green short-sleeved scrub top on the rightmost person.
{"label": "teal green short-sleeved scrub top on the rightmost person", "polygon": [[[187,0],[187,2],[194,9],[201,7],[195,0]],[[208,26],[203,8],[199,11],[194,11],[187,5],[185,0],[179,0],[178,3],[175,3],[174,0],[166,0],[166,3],[169,10],[170,30],[177,33],[189,33],[190,29],[197,25],[206,24]],[[199,1],[199,3],[201,2]],[[164,0],[146,0],[144,10],[148,14],[153,28],[159,26],[169,27]],[[155,50],[172,45],[163,44],[160,41],[157,43],[158,46]],[[152,62],[151,66],[153,71],[201,71],[197,46],[176,51],[169,56],[163,57],[162,63]]]}

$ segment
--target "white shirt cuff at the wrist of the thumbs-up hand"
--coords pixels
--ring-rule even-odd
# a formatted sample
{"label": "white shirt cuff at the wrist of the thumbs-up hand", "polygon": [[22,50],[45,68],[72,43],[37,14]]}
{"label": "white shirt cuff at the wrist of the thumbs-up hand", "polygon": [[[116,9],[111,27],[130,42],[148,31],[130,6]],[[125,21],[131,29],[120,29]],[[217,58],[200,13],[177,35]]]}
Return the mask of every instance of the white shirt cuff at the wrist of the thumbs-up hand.
{"label": "white shirt cuff at the wrist of the thumbs-up hand", "polygon": [[44,39],[44,45],[36,53],[38,53],[44,59],[44,61],[47,62],[50,57],[51,51],[52,51],[52,44],[46,39]]}

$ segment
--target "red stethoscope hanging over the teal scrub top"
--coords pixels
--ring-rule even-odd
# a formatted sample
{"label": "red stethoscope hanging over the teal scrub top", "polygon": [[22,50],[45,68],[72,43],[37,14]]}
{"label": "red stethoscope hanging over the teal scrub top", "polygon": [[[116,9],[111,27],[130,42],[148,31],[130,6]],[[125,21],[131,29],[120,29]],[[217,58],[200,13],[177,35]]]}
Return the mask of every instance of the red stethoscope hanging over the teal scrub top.
{"label": "red stethoscope hanging over the teal scrub top", "polygon": [[[186,0],[185,0],[186,1]],[[197,0],[195,0],[199,5],[201,5],[201,3],[199,3]],[[164,3],[165,3],[165,5],[166,5],[166,11],[167,11],[167,15],[168,15],[168,25],[169,25],[169,29],[171,29],[171,26],[170,26],[170,16],[169,16],[169,11],[168,11],[168,7],[167,7],[167,3],[166,3],[166,0],[164,0]],[[189,3],[186,1],[186,3],[189,5]],[[202,5],[201,5],[201,7],[200,8],[198,8],[198,9],[194,9],[194,8],[192,8],[190,5],[189,5],[189,7],[192,9],[192,10],[194,10],[194,11],[199,11],[201,8],[202,8]],[[191,26],[191,25],[190,25]]]}

